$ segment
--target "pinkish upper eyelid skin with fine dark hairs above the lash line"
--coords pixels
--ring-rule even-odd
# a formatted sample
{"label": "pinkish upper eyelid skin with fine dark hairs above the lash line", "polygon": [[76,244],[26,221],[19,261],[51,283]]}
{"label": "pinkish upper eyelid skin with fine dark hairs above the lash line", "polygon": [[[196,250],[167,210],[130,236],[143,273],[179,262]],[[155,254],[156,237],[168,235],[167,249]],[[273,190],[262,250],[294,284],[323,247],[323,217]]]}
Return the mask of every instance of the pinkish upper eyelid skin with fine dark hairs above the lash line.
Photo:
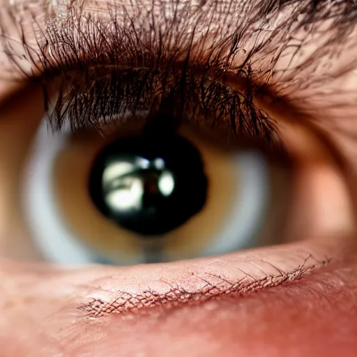
{"label": "pinkish upper eyelid skin with fine dark hairs above the lash line", "polygon": [[[235,83],[249,79],[255,84],[252,102],[262,87],[289,97],[356,68],[356,24],[352,0],[70,0],[57,6],[17,0],[0,10],[0,47],[8,54],[8,73],[46,84],[60,75],[77,92],[78,73],[88,82],[114,68],[121,71],[116,80],[130,82],[122,76],[128,68],[167,77],[195,70],[216,82],[226,75],[236,77]],[[347,63],[332,66],[344,50]],[[277,66],[281,59],[286,66]],[[174,82],[181,78],[174,76]],[[65,105],[66,98],[60,99]],[[58,107],[57,116],[62,113]]]}

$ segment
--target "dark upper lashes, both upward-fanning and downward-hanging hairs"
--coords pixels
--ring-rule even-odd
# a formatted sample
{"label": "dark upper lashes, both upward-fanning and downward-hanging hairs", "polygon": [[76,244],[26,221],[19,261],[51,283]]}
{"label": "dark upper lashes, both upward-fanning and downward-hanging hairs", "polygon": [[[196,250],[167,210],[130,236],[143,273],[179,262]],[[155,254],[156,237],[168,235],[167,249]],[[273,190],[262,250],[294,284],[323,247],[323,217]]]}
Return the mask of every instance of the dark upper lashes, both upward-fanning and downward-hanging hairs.
{"label": "dark upper lashes, both upward-fanning and downward-hanging hairs", "polygon": [[[223,48],[218,44],[206,54],[209,60],[202,66],[198,53],[190,59],[196,50],[192,43],[184,54],[186,58],[180,61],[182,50],[167,46],[165,39],[159,46],[144,44],[142,38],[133,40],[135,29],[123,33],[114,17],[112,30],[105,33],[100,31],[101,22],[91,17],[81,22],[81,31],[75,31],[79,27],[76,18],[67,20],[60,31],[50,31],[41,50],[50,50],[52,61],[43,61],[45,70],[39,79],[46,89],[54,77],[60,82],[49,115],[53,128],[61,129],[66,119],[75,131],[100,129],[114,119],[120,122],[142,113],[147,118],[163,113],[185,120],[185,113],[190,112],[206,126],[220,126],[234,135],[278,146],[274,121],[253,101],[257,87],[250,85],[253,76],[249,56],[244,66],[229,68],[231,56],[237,51],[234,45],[222,59]],[[244,93],[225,85],[228,68],[229,73],[244,74]]]}

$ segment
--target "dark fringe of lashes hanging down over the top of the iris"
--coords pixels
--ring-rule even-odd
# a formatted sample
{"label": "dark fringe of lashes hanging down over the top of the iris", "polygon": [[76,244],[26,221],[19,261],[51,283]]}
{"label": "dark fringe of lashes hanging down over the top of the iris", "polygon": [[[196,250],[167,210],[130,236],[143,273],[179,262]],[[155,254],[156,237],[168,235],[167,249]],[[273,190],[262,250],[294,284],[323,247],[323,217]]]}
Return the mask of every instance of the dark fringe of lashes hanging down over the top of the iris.
{"label": "dark fringe of lashes hanging down over the top of the iris", "polygon": [[[114,69],[104,77],[89,80],[88,72],[59,91],[52,111],[52,123],[61,128],[70,118],[72,130],[100,128],[113,119],[154,116],[157,112],[183,118],[185,113],[204,118],[206,125],[224,126],[241,135],[264,139],[273,135],[273,121],[253,102],[252,91],[244,95],[195,71]],[[184,81],[182,80],[184,77]],[[68,85],[68,81],[69,85]],[[184,118],[183,118],[184,119]]]}

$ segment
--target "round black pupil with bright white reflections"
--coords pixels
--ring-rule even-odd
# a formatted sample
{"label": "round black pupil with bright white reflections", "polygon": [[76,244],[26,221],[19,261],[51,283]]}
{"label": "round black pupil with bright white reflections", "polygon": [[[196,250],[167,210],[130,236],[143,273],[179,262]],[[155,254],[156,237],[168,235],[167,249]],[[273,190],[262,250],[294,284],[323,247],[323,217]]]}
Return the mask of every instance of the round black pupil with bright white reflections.
{"label": "round black pupil with bright white reflections", "polygon": [[89,192],[98,210],[143,236],[162,235],[198,213],[207,179],[199,151],[178,135],[119,139],[91,169]]}

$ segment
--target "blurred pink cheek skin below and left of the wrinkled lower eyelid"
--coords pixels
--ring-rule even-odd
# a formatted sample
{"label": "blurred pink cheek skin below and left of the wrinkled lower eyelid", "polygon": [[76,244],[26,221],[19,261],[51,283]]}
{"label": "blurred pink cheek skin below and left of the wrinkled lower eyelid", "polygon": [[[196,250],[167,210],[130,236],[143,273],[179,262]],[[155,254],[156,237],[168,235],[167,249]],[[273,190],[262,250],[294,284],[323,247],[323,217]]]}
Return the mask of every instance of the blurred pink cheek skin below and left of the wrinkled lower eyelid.
{"label": "blurred pink cheek skin below and left of the wrinkled lower eyelid", "polygon": [[[259,294],[102,319],[78,318],[70,307],[75,285],[88,273],[68,275],[31,266],[25,273],[19,266],[2,264],[6,276],[1,277],[1,291],[7,291],[0,300],[3,356],[356,354],[356,257]],[[19,273],[26,275],[28,286],[15,289],[9,278]],[[56,284],[48,291],[43,280]]]}

